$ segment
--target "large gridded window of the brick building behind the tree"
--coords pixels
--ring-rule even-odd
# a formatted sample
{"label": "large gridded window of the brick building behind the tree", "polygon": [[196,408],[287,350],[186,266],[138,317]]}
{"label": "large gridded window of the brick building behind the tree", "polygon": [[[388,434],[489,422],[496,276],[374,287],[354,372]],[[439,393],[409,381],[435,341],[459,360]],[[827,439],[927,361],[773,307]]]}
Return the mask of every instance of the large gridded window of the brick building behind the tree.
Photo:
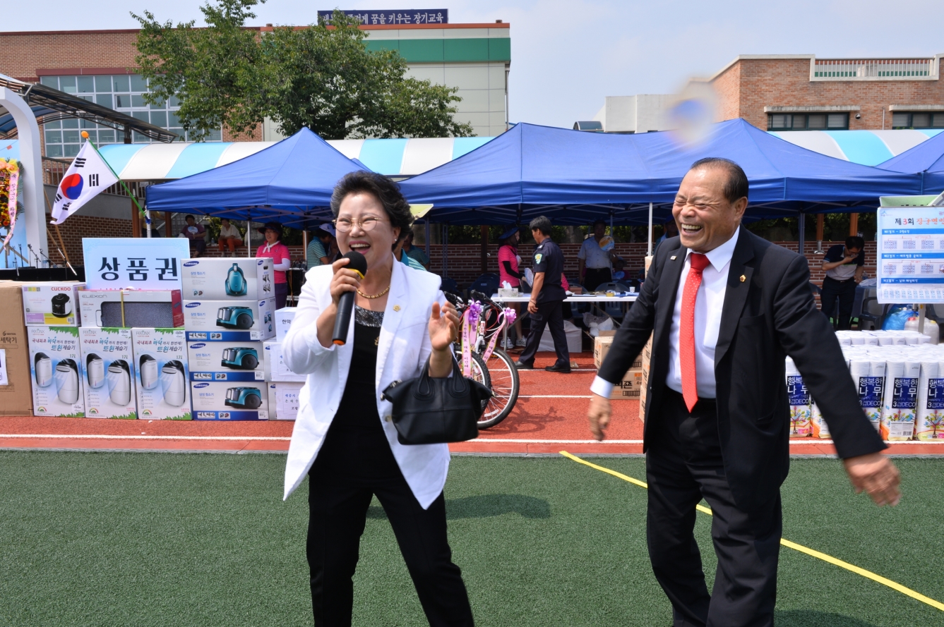
{"label": "large gridded window of the brick building behind the tree", "polygon": [[[189,133],[184,133],[177,120],[176,111],[180,108],[177,98],[171,98],[168,102],[158,105],[147,105],[144,103],[147,82],[140,75],[42,76],[40,83],[67,93],[75,93],[90,102],[166,128],[177,133],[180,140],[193,141],[193,137]],[[85,121],[82,121],[82,124],[78,123],[78,120],[71,119],[43,124],[47,157],[75,157],[82,145],[82,130],[89,132],[89,139],[93,140],[96,145],[125,141],[125,132],[122,130]],[[207,141],[221,141],[222,139],[222,132],[213,130]],[[140,133],[133,133],[131,140],[133,143],[151,141]]]}

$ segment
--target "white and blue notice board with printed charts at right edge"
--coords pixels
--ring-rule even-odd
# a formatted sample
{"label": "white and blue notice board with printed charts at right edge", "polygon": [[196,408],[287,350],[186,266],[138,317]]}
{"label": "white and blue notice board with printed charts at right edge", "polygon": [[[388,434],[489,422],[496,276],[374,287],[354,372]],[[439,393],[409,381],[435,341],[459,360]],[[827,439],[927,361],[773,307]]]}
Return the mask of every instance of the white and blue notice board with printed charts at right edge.
{"label": "white and blue notice board with printed charts at right edge", "polygon": [[944,206],[921,204],[879,207],[879,303],[944,303]]}

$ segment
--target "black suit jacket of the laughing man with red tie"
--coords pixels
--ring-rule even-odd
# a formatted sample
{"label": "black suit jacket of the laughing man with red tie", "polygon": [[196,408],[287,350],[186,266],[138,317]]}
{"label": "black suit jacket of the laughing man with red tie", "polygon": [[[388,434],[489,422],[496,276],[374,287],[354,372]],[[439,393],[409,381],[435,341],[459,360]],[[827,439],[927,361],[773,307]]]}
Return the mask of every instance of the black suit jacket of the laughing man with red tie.
{"label": "black suit jacket of the laughing man with red tie", "polygon": [[[644,451],[666,388],[668,336],[686,253],[677,237],[659,247],[599,369],[600,378],[618,382],[654,334]],[[805,257],[741,228],[728,271],[715,378],[724,467],[742,509],[775,497],[789,470],[786,355],[816,399],[840,457],[885,448],[859,405],[839,342],[817,310],[809,280]]]}

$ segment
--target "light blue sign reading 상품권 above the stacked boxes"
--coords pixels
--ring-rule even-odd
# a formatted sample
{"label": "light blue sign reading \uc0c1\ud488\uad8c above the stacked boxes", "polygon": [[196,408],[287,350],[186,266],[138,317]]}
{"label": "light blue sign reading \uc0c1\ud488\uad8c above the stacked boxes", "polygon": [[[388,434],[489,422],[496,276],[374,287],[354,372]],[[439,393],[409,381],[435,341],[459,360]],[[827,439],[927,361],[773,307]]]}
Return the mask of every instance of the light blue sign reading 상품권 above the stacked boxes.
{"label": "light blue sign reading \uc0c1\ud488\uad8c above the stacked boxes", "polygon": [[180,289],[185,238],[83,238],[88,289]]}

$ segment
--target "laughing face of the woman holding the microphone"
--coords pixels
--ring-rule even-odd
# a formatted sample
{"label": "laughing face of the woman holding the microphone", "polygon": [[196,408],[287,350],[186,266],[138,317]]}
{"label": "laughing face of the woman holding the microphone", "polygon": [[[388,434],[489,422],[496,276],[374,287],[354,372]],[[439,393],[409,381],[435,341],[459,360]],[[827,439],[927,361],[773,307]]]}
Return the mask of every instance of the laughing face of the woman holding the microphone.
{"label": "laughing face of the woman holding the microphone", "polygon": [[[346,224],[344,227],[342,224]],[[343,232],[343,228],[349,228]],[[380,201],[370,193],[347,194],[341,201],[337,218],[338,249],[342,255],[357,251],[374,268],[390,261],[391,250],[400,235],[400,227],[390,224],[390,217]]]}

